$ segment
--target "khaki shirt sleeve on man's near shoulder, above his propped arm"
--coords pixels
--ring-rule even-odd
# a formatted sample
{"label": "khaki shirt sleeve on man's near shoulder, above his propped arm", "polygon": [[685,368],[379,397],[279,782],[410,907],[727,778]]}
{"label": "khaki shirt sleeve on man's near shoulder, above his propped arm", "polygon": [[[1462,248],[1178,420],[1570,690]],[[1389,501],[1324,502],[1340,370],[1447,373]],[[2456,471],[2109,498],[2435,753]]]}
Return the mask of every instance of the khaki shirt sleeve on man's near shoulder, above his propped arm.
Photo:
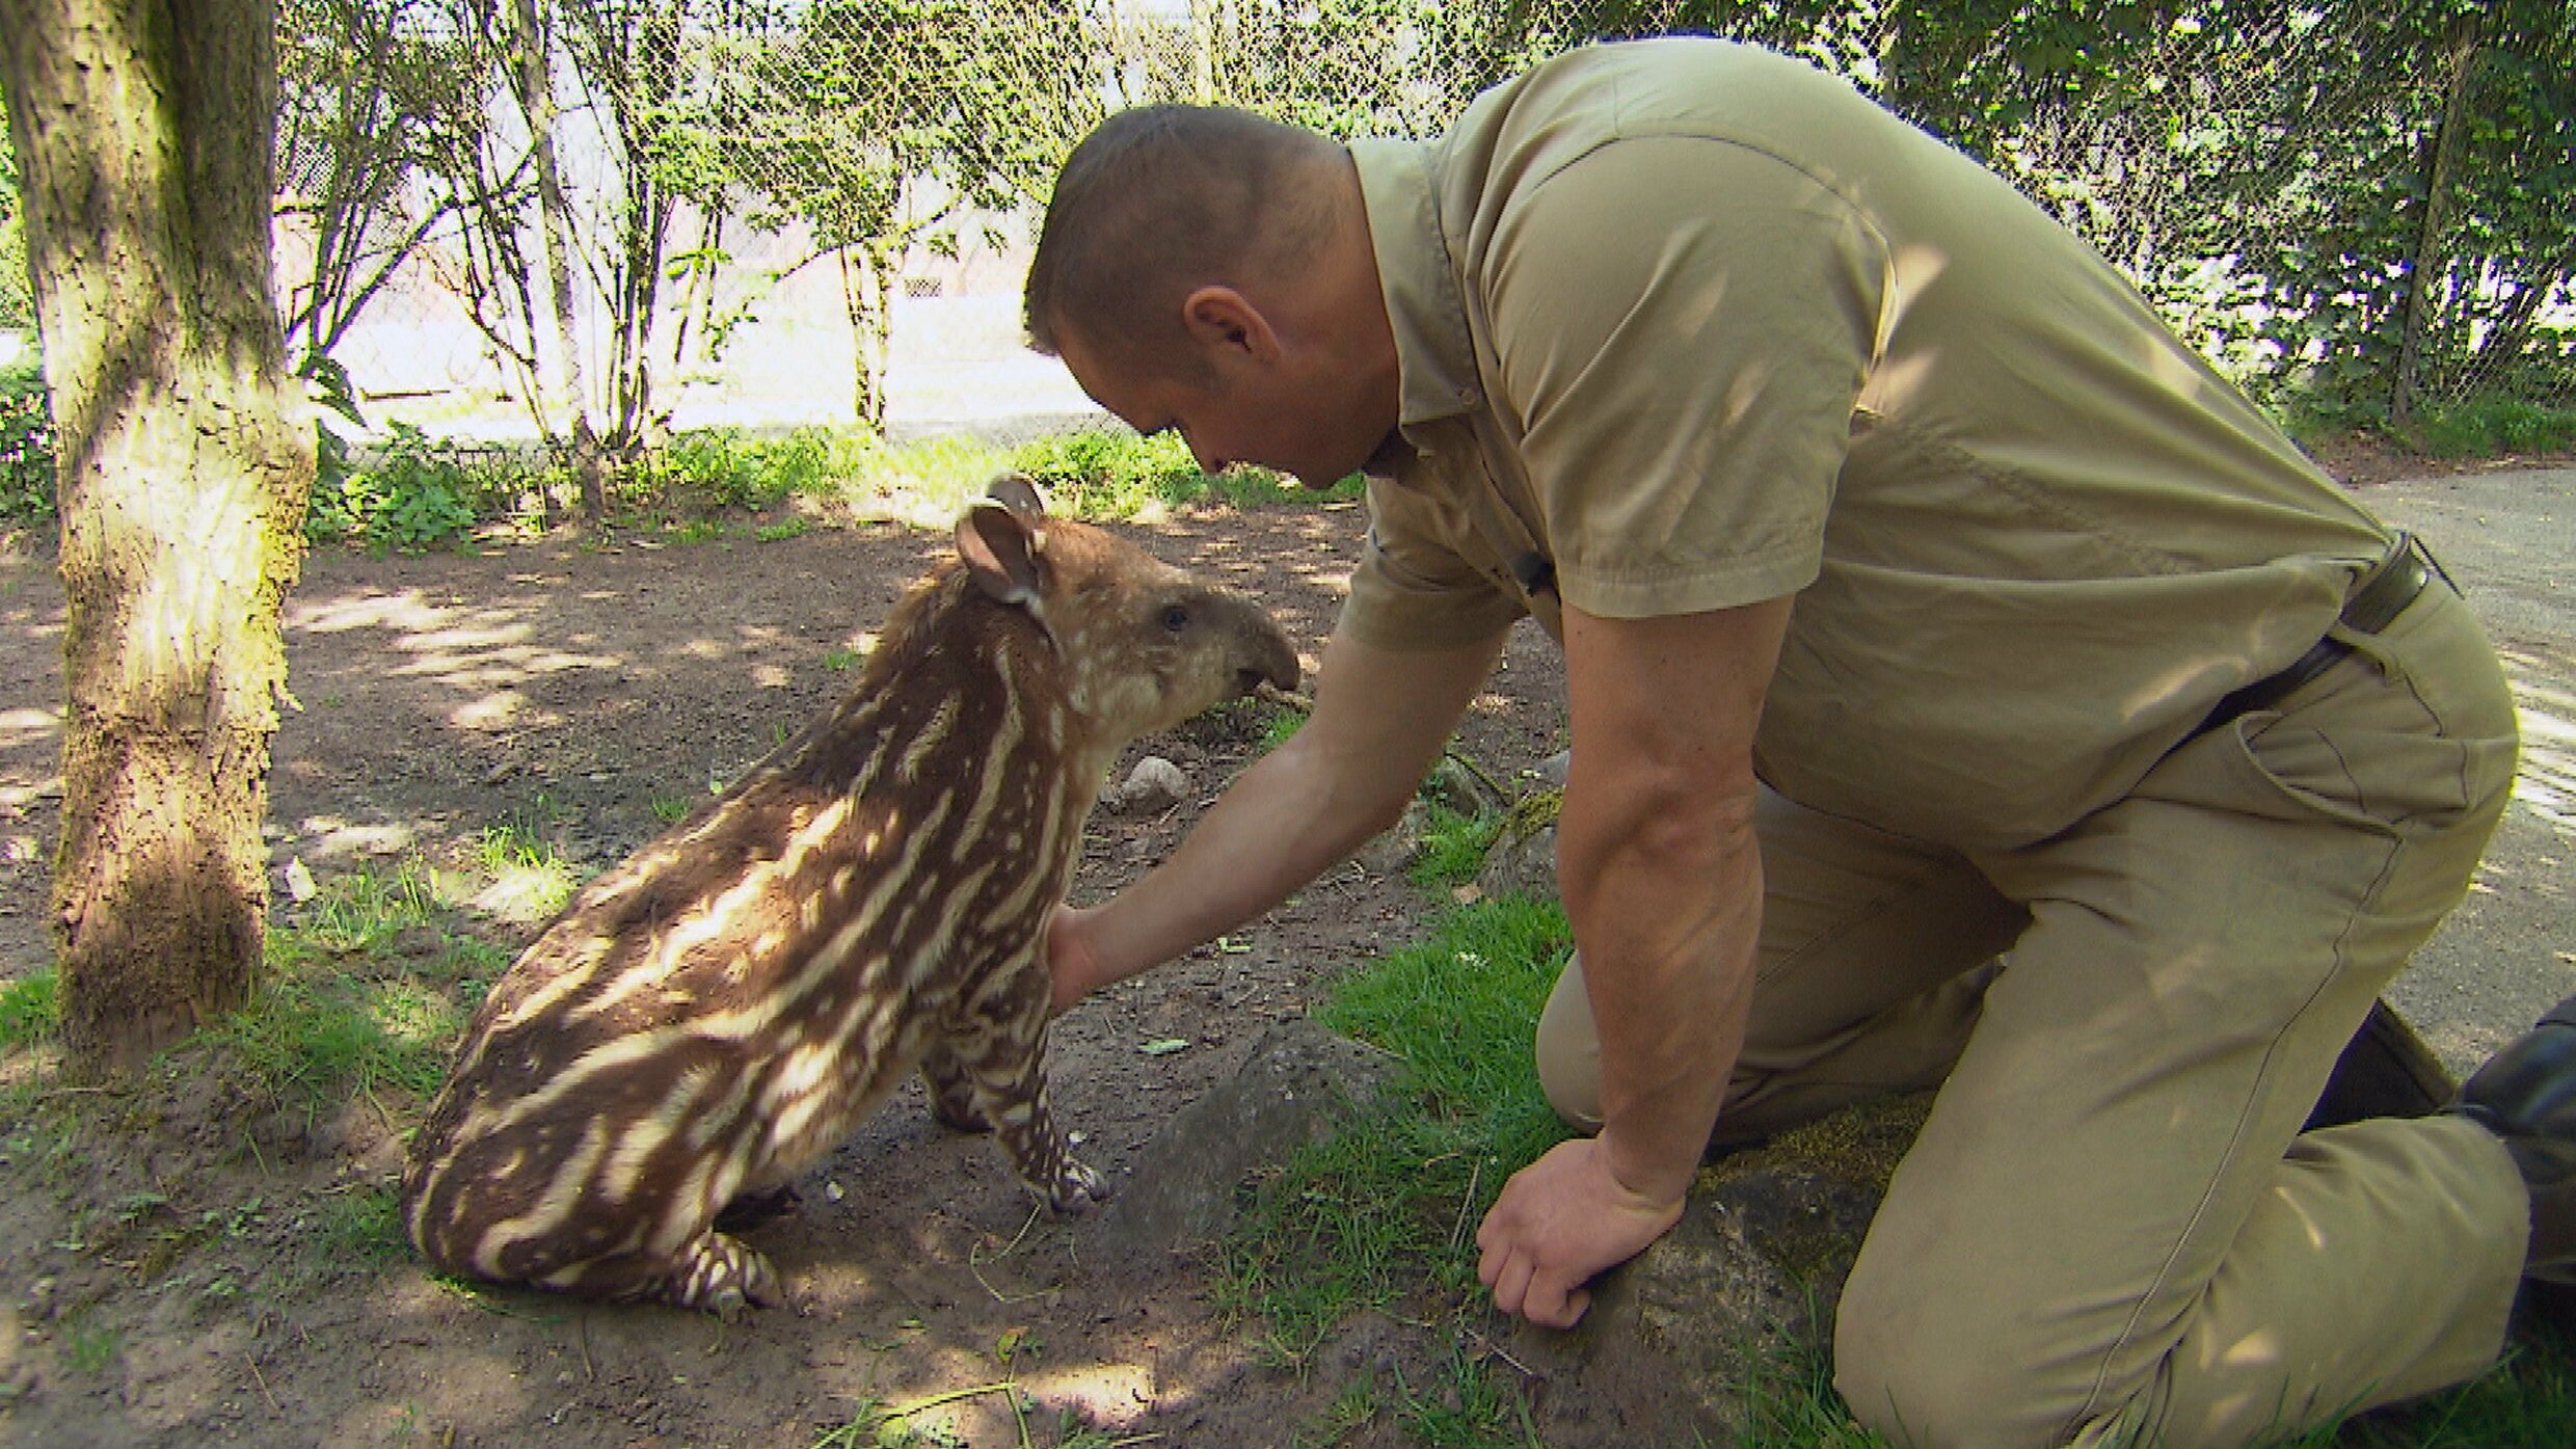
{"label": "khaki shirt sleeve on man's near shoulder, above his propped arm", "polygon": [[1692,614],[1816,580],[1888,291],[1855,206],[1736,142],[1615,139],[1507,201],[1484,278],[1566,603]]}

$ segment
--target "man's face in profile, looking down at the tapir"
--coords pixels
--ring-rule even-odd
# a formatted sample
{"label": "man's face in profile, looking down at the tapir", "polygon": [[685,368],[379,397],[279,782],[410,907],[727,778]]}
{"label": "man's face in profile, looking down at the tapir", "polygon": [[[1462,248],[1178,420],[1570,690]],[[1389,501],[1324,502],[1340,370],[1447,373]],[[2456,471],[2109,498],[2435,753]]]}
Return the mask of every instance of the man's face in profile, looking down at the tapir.
{"label": "man's face in profile, looking down at the tapir", "polygon": [[1079,338],[1064,338],[1061,356],[1092,402],[1139,433],[1180,433],[1211,474],[1260,464],[1306,487],[1332,487],[1360,472],[1394,428],[1394,410],[1370,407],[1347,379],[1301,379],[1293,366],[1218,356],[1206,366],[1177,358],[1180,366],[1144,369]]}

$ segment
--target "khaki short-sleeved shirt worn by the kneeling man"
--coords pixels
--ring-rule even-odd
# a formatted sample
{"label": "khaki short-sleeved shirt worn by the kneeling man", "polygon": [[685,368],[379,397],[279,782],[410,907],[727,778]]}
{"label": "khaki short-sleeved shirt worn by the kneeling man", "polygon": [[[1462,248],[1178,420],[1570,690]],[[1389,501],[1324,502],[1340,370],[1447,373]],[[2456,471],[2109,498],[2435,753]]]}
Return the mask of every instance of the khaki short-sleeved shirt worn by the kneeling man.
{"label": "khaki short-sleeved shirt worn by the kneeling man", "polygon": [[1757,768],[1968,848],[2128,792],[2385,529],[2004,180],[1723,41],[1355,142],[1412,456],[1345,629],[1795,596]]}

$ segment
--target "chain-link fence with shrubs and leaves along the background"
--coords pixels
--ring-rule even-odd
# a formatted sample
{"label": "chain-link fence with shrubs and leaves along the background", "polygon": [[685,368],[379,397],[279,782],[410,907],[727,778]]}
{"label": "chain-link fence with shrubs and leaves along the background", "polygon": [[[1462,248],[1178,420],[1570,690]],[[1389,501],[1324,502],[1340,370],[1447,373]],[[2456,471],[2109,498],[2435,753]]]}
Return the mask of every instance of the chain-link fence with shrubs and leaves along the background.
{"label": "chain-link fence with shrubs and leaves along the background", "polygon": [[1087,413],[1018,289],[1108,111],[1430,137],[1667,31],[1960,144],[2285,410],[2576,407],[2566,0],[286,0],[291,333],[451,433],[1025,433]]}

